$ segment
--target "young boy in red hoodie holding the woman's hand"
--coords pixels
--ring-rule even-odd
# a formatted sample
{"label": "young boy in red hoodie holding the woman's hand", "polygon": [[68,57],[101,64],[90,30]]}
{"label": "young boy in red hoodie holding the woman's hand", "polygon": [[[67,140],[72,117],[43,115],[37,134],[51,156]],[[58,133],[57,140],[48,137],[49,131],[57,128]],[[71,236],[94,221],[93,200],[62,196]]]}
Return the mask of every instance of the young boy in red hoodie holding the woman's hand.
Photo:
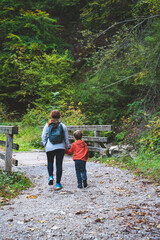
{"label": "young boy in red hoodie holding the woman's hand", "polygon": [[86,161],[88,159],[88,148],[87,144],[82,141],[82,133],[77,130],[74,132],[75,142],[72,144],[71,148],[66,150],[67,154],[73,153],[73,161],[75,162],[76,176],[78,182],[78,188],[87,187],[87,171],[86,171]]}

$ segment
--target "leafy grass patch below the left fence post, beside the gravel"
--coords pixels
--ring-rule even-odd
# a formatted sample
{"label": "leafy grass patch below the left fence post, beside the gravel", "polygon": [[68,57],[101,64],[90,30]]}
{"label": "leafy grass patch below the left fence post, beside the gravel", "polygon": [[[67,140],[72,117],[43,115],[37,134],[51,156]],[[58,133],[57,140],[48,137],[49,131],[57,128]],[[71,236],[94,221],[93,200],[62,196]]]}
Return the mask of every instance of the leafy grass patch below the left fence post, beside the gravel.
{"label": "leafy grass patch below the left fence post, beside the gravel", "polygon": [[20,172],[4,172],[0,170],[0,205],[16,197],[22,190],[31,185],[31,181]]}

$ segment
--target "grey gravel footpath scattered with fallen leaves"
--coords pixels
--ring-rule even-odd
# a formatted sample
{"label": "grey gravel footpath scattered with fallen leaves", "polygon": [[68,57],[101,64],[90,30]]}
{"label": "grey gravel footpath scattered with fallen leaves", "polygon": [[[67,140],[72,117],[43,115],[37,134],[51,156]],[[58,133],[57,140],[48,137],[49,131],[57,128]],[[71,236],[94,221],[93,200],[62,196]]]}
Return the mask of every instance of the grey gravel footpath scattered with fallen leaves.
{"label": "grey gravel footpath scattered with fallen leaves", "polygon": [[48,186],[44,152],[16,153],[33,187],[0,208],[0,239],[160,240],[157,188],[128,171],[87,162],[88,187],[77,189],[65,156],[63,189]]}

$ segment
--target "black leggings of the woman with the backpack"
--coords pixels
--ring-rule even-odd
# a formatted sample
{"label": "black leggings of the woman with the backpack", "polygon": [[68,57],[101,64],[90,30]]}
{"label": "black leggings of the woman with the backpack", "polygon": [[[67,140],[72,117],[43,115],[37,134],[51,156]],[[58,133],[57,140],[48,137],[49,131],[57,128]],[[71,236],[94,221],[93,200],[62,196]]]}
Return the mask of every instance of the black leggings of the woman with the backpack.
{"label": "black leggings of the woman with the backpack", "polygon": [[48,161],[47,169],[49,176],[53,176],[54,156],[56,156],[56,183],[61,182],[64,151],[65,151],[64,149],[56,149],[54,151],[46,153]]}

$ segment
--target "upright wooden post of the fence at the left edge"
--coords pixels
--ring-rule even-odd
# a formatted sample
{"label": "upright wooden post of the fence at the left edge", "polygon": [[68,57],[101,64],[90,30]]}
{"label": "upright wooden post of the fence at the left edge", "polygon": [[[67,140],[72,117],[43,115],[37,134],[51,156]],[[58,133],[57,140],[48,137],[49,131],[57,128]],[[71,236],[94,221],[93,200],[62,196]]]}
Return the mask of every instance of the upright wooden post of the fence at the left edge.
{"label": "upright wooden post of the fence at the left edge", "polygon": [[13,146],[13,134],[7,134],[6,135],[5,171],[8,171],[8,172],[12,170],[12,146]]}

